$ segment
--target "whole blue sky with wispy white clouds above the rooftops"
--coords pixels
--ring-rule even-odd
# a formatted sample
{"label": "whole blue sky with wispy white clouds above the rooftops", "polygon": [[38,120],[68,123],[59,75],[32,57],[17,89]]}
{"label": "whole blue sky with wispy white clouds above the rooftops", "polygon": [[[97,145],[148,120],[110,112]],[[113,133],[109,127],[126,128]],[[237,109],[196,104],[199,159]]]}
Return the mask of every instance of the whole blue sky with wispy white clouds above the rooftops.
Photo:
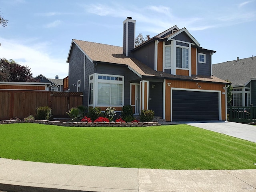
{"label": "whole blue sky with wispy white clouds above the rooftops", "polygon": [[122,22],[136,20],[136,36],[150,37],[177,25],[212,63],[256,56],[256,0],[0,0],[0,58],[31,68],[33,76],[68,76],[72,39],[122,46]]}

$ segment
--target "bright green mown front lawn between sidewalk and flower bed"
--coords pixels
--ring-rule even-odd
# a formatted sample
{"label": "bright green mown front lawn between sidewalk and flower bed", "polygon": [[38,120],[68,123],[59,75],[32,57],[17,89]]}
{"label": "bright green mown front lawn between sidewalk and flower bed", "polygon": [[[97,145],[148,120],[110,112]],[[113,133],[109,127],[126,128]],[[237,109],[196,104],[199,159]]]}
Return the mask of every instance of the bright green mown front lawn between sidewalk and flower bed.
{"label": "bright green mown front lawn between sidewalk and flower bed", "polygon": [[154,169],[253,169],[256,143],[188,125],[62,127],[0,125],[0,157]]}

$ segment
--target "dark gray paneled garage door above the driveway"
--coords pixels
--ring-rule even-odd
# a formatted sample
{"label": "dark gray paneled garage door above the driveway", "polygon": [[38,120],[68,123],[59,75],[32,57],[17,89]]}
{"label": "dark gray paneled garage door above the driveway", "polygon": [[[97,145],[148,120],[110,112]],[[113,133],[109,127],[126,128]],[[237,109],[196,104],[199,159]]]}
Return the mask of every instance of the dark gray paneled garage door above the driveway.
{"label": "dark gray paneled garage door above the driveway", "polygon": [[219,94],[172,90],[172,121],[199,120],[219,120]]}

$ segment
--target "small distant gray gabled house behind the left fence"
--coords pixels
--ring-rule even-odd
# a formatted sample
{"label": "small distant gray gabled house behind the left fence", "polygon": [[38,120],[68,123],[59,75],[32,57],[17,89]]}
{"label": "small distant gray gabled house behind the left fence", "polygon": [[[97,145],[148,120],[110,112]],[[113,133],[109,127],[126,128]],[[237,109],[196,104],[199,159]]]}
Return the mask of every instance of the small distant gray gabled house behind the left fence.
{"label": "small distant gray gabled house behind the left fence", "polygon": [[49,91],[63,91],[63,80],[59,79],[58,75],[55,76],[55,79],[50,79],[40,74],[34,79],[38,80],[39,82],[50,83]]}

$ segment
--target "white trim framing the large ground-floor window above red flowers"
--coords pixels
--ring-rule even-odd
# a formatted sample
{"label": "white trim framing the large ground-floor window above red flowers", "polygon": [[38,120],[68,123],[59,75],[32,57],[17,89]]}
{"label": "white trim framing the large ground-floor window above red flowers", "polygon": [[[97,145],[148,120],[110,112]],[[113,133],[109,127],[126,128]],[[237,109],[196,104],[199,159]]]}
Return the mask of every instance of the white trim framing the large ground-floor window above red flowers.
{"label": "white trim framing the large ground-floor window above red flowers", "polygon": [[[90,77],[93,76],[93,79],[90,80]],[[105,79],[98,79],[98,76],[115,76],[115,77],[121,77],[122,81],[116,81],[116,80],[105,80]],[[89,106],[93,107],[106,107],[106,105],[98,105],[98,83],[110,83],[110,84],[122,84],[122,104],[121,105],[109,105],[108,107],[120,107],[124,106],[124,76],[122,75],[112,75],[112,74],[98,74],[94,73],[89,76],[89,88],[88,91],[90,92],[90,83],[93,82],[93,104],[90,104]],[[89,92],[88,92],[88,104],[89,104]]]}

